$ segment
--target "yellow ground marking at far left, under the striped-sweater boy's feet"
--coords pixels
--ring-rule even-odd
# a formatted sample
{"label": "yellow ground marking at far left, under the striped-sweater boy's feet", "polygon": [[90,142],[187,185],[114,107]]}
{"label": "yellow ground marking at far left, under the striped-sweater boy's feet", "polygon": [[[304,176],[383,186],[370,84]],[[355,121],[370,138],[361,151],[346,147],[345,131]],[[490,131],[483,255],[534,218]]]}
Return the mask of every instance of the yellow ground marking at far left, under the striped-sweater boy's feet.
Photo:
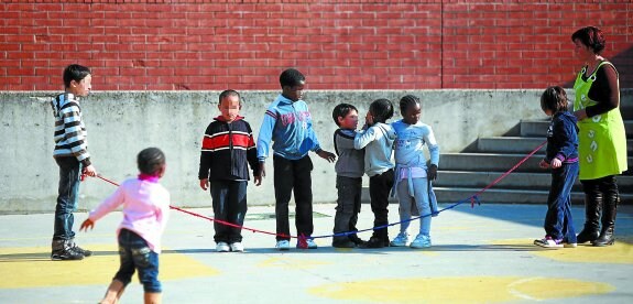
{"label": "yellow ground marking at far left, under the striped-sweater boy's feet", "polygon": [[[95,256],[80,261],[51,261],[51,249],[0,248],[0,289],[108,285],[119,269],[117,246],[86,246]],[[217,275],[218,270],[182,253],[160,257],[160,280]],[[133,282],[138,283],[134,274]]]}

